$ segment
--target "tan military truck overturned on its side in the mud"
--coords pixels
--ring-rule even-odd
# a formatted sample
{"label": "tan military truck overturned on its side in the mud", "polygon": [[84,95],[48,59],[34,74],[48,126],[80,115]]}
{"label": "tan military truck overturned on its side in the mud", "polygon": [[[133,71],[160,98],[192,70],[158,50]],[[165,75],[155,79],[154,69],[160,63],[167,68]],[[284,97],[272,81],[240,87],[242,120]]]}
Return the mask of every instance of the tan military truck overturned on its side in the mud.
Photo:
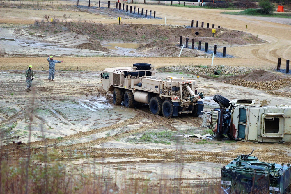
{"label": "tan military truck overturned on its side in the mud", "polygon": [[[220,105],[203,112],[203,127],[216,137],[250,142],[291,142],[291,106],[254,106],[254,100],[232,100],[215,95]],[[210,117],[210,124],[207,119]]]}

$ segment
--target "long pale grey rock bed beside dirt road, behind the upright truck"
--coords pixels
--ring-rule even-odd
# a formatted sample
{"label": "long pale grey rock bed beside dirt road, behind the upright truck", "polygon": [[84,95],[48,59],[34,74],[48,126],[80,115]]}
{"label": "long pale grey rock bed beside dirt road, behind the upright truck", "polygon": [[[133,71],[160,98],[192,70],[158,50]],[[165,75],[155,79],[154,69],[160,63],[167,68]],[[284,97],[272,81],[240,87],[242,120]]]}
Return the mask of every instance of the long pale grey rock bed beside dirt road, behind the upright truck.
{"label": "long pale grey rock bed beside dirt road, behind the upright truck", "polygon": [[[230,67],[224,65],[215,65],[215,66],[203,66],[203,65],[176,65],[176,66],[167,66],[163,67],[163,70],[168,71],[177,71],[177,72],[190,72],[198,75],[206,76],[238,76],[248,72],[251,72],[253,69],[248,67]],[[216,72],[216,73],[215,73]],[[215,74],[214,74],[215,73]]]}

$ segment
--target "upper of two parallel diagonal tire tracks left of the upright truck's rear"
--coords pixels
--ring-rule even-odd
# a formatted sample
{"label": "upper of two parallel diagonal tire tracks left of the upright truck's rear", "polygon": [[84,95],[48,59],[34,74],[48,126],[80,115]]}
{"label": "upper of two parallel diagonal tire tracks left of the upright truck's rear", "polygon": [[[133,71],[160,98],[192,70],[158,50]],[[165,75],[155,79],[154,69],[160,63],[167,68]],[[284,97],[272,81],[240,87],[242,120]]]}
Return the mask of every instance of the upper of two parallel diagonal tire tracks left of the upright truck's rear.
{"label": "upper of two parallel diagonal tire tracks left of the upright truck's rear", "polygon": [[[86,131],[86,132],[79,132],[77,134],[73,134],[73,135],[69,135],[69,136],[65,136],[61,139],[47,139],[47,144],[55,144],[55,143],[61,143],[61,142],[65,142],[65,141],[69,141],[69,140],[74,140],[74,139],[79,139],[79,138],[82,138],[82,137],[86,137],[86,136],[89,136],[89,135],[93,135],[93,134],[97,134],[97,133],[101,133],[101,132],[104,132],[104,131],[109,131],[109,130],[112,130],[112,129],[118,129],[120,127],[123,127],[123,126],[126,126],[128,125],[129,123],[132,123],[132,122],[135,122],[135,121],[139,121],[143,119],[143,117],[141,115],[136,115],[134,118],[131,118],[131,119],[127,119],[123,122],[120,122],[120,123],[116,123],[116,124],[113,124],[113,125],[110,125],[110,126],[106,126],[106,127],[101,127],[101,128],[98,128],[98,129],[92,129],[90,131]],[[32,142],[31,145],[33,146],[43,146],[44,145],[44,141],[35,141],[35,142]]]}

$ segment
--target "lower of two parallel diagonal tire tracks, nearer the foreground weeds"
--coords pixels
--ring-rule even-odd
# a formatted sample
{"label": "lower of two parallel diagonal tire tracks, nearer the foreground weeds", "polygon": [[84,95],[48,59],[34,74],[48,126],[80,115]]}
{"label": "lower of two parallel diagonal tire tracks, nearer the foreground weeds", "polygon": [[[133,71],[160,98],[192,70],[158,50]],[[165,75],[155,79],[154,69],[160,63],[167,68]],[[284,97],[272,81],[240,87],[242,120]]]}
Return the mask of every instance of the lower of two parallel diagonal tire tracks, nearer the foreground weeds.
{"label": "lower of two parallel diagonal tire tracks, nearer the foreground weeds", "polygon": [[[132,120],[130,120],[130,122],[132,122]],[[142,131],[146,131],[152,127],[155,127],[157,124],[150,124],[150,125],[146,125],[146,126],[141,126],[138,129],[133,129],[131,131],[124,131],[122,133],[119,134],[115,134],[113,136],[108,136],[108,137],[102,137],[102,138],[98,138],[96,140],[92,140],[89,142],[85,142],[85,143],[76,143],[76,144],[72,144],[72,145],[64,145],[64,146],[59,146],[56,147],[56,150],[58,151],[63,151],[65,149],[77,149],[79,147],[89,147],[89,146],[94,146],[94,145],[98,145],[98,144],[102,144],[102,143],[106,143],[112,140],[116,140],[116,139],[120,139],[135,133],[140,133]]]}

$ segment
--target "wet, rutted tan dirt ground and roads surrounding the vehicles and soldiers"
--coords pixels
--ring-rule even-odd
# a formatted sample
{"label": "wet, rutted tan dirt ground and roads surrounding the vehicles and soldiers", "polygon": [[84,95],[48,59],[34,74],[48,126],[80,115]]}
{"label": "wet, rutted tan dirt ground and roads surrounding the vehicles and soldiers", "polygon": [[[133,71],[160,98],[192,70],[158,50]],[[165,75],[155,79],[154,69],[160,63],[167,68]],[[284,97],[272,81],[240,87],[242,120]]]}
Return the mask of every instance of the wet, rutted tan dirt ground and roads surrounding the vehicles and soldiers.
{"label": "wet, rutted tan dirt ground and roads surrounding the vehicles and soldiers", "polygon": [[[66,3],[72,2],[64,1],[65,5]],[[92,3],[96,5],[97,1]],[[105,1],[102,2],[102,5],[105,6],[105,4]],[[156,10],[157,16],[162,19],[142,20],[124,16],[123,24],[136,24],[136,26],[138,26],[137,24],[163,24],[166,17],[167,24],[170,25],[191,25],[191,19],[204,21],[204,25],[206,23],[221,25],[225,29],[235,31],[244,31],[248,25],[248,33],[251,33],[253,37],[258,35],[258,38],[265,41],[255,42],[255,44],[253,42],[243,44],[236,42],[235,44],[239,43],[239,45],[233,44],[227,50],[227,53],[234,57],[217,57],[214,59],[214,65],[273,70],[276,68],[278,57],[282,58],[282,64],[284,64],[291,54],[291,34],[287,33],[291,26],[286,24],[284,19],[223,15],[220,13],[225,10],[143,4],[136,4],[136,6]],[[115,175],[112,177],[120,188],[124,175],[151,180],[152,184],[157,183],[162,176],[165,176],[165,179],[168,179],[171,184],[175,184],[175,178],[180,176],[184,179],[185,186],[211,182],[220,176],[221,167],[238,154],[251,152],[252,148],[255,148],[253,155],[258,156],[261,161],[290,163],[290,143],[258,144],[226,139],[223,141],[203,141],[191,137],[175,139],[173,135],[177,134],[204,134],[208,132],[205,128],[200,127],[202,118],[180,115],[176,118],[166,119],[152,115],[147,105],[133,109],[114,106],[112,94],[106,95],[102,90],[99,75],[100,71],[106,67],[132,66],[133,63],[145,62],[156,67],[210,65],[212,59],[207,57],[207,54],[206,56],[201,54],[199,57],[178,58],[177,56],[168,57],[169,55],[166,54],[164,55],[166,57],[157,57],[163,56],[162,54],[166,53],[167,50],[155,51],[152,42],[149,43],[152,49],[149,52],[157,54],[150,57],[122,56],[123,54],[112,50],[100,50],[100,47],[82,49],[82,47],[75,47],[74,44],[77,42],[81,42],[77,45],[92,44],[92,41],[88,41],[90,35],[78,32],[71,32],[70,35],[67,32],[47,35],[45,32],[33,31],[27,24],[34,24],[35,19],[41,20],[44,15],[61,19],[64,13],[71,15],[74,21],[81,19],[84,23],[84,19],[86,19],[86,21],[92,21],[98,25],[101,23],[117,24],[116,17],[120,16],[106,10],[102,13],[90,13],[72,10],[70,7],[58,9],[54,6],[0,9],[1,38],[2,34],[7,34],[4,38],[18,40],[0,41],[0,49],[2,50],[0,56],[0,103],[2,105],[0,108],[0,128],[1,131],[5,132],[1,142],[5,145],[4,149],[9,153],[14,153],[14,156],[17,157],[21,151],[13,144],[13,141],[21,141],[23,144],[28,141],[29,115],[26,111],[33,98],[33,92],[35,92],[36,115],[32,123],[31,136],[34,151],[39,152],[44,147],[44,138],[46,138],[48,148],[54,150],[54,157],[84,168],[91,168],[93,163],[97,163],[106,172]],[[90,22],[87,23],[89,24],[85,25],[93,25]],[[166,26],[166,28],[168,27]],[[163,41],[166,40],[162,40],[162,37],[167,36],[167,33],[159,35],[161,39],[157,40],[157,45],[165,45]],[[71,42],[62,41],[64,40],[62,39],[63,34],[65,37],[71,38]],[[122,42],[121,38],[118,39],[120,43]],[[170,38],[173,37],[169,35]],[[221,38],[233,37],[228,34]],[[207,40],[210,39],[210,37],[207,38]],[[102,47],[111,42],[104,41],[98,40]],[[142,40],[134,41],[134,43],[138,42],[142,42]],[[223,41],[219,41],[219,43],[223,45]],[[229,45],[229,42],[225,44]],[[145,47],[140,49],[144,50]],[[49,82],[47,79],[48,64],[46,59],[50,54],[55,55],[56,60],[64,61],[64,63],[56,64],[55,82]],[[86,55],[87,57],[78,57],[77,55]],[[28,65],[33,65],[35,74],[34,91],[30,93],[25,90],[24,78]],[[196,75],[182,72],[158,70],[157,73],[162,77],[168,74],[196,77]],[[245,74],[237,79],[271,81],[288,76],[290,75],[278,72],[273,74],[272,71],[268,71],[267,73]],[[270,105],[291,105],[289,97],[275,96],[265,90],[232,85],[225,82],[226,80],[227,78],[214,79],[212,77],[203,78],[203,76],[199,78],[198,90],[207,93],[204,99],[205,111],[217,107],[217,104],[212,100],[215,94],[223,95],[228,99],[255,99],[257,104],[266,99]],[[287,92],[287,90],[290,90],[290,86],[281,88],[281,91]],[[143,135],[151,138],[146,141],[142,138]],[[173,173],[173,169],[175,171],[177,168],[182,169],[181,175]]]}

